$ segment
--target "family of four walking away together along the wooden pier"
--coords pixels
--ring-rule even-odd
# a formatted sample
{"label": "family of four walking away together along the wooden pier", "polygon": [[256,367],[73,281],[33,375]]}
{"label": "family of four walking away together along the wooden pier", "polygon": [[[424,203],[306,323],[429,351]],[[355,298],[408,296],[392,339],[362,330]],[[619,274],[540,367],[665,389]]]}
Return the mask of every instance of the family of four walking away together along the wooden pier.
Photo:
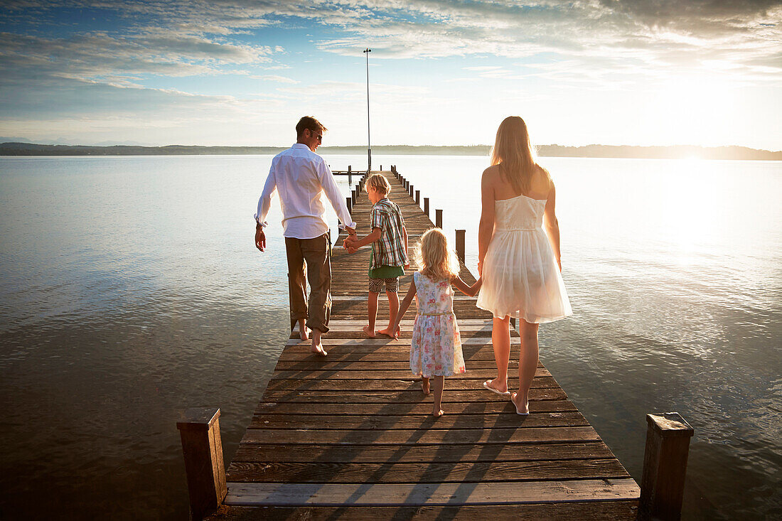
{"label": "family of four walking away together along the wooden pier", "polygon": [[[388,199],[391,186],[382,174],[366,182],[371,210],[371,232],[359,239],[356,224],[321,156],[315,154],[326,128],[312,117],[296,125],[297,142],[274,157],[258,201],[256,247],[266,248],[264,227],[271,196],[278,192],[282,206],[285,253],[289,268],[291,327],[299,324],[301,340],[312,335],[312,350],[326,351],[321,335],[328,332],[331,311],[331,262],[328,224],[321,192],[325,193],[348,236],[343,246],[354,253],[371,244],[367,336],[397,338],[399,324],[413,298],[418,313],[411,340],[411,370],[421,375],[421,387],[429,394],[434,379],[432,414],[443,415],[442,396],[446,376],[465,372],[461,338],[453,309],[456,286],[474,296],[477,306],[493,314],[492,343],[497,378],[486,380],[486,390],[507,396],[519,415],[529,414],[529,388],[538,365],[538,325],[572,314],[561,278],[559,228],[554,213],[555,191],[550,174],[536,163],[526,124],[508,117],[497,130],[491,166],[482,174],[482,211],[479,224],[479,280],[468,286],[459,277],[459,263],[439,228],[421,235],[415,250],[418,271],[400,304],[399,277],[410,267],[407,230],[399,207]],[[310,283],[305,299],[305,271]],[[386,290],[389,324],[375,329],[378,294]],[[508,391],[511,352],[510,319],[519,319],[522,337],[518,367],[518,393]]]}

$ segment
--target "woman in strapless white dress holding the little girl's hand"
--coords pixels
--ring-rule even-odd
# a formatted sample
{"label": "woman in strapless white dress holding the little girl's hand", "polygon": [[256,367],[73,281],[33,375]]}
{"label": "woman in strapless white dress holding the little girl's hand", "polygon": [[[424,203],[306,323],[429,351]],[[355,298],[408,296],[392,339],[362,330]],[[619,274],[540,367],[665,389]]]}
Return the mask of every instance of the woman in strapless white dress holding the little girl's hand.
{"label": "woman in strapless white dress holding the little girl's hand", "polygon": [[[481,180],[478,273],[483,286],[477,305],[494,316],[491,336],[498,374],[483,386],[510,396],[516,413],[528,415],[529,387],[538,364],[538,324],[572,314],[560,275],[554,182],[536,163],[520,117],[507,117],[500,124],[491,164]],[[508,392],[511,316],[520,319],[522,336],[518,393],[512,396]]]}

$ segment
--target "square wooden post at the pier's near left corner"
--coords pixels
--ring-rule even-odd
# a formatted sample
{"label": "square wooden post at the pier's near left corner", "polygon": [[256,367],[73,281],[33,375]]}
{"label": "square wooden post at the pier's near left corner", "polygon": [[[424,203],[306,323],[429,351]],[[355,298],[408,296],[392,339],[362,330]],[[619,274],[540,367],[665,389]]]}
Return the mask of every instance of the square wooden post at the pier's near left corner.
{"label": "square wooden post at the pier's near left corner", "polygon": [[203,519],[217,510],[228,492],[219,419],[220,409],[192,408],[177,422],[193,519]]}

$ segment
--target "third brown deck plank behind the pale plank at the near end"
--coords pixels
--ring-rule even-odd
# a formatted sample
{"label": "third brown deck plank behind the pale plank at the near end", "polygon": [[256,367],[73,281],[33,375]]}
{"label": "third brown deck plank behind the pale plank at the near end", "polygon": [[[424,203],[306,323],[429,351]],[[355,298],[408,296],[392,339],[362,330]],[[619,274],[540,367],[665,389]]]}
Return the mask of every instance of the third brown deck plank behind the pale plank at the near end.
{"label": "third brown deck plank behind the pale plank at the near end", "polygon": [[[524,419],[519,416],[518,425]],[[529,429],[438,429],[437,419],[429,419],[415,430],[321,430],[321,429],[247,429],[244,444],[545,444],[565,441],[597,441],[592,427],[549,427]]]}

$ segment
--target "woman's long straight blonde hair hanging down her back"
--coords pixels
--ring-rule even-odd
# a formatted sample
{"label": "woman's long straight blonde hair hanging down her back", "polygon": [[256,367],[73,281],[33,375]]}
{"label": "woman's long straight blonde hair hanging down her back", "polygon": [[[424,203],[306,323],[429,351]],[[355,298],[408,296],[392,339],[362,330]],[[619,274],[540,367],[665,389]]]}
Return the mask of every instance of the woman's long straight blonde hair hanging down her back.
{"label": "woman's long straight blonde hair hanging down her back", "polygon": [[529,141],[527,124],[518,116],[508,116],[497,128],[497,139],[491,150],[492,165],[500,166],[500,175],[513,189],[521,194],[529,193],[533,174],[537,168],[543,171],[549,181],[548,171],[537,163],[537,154]]}

